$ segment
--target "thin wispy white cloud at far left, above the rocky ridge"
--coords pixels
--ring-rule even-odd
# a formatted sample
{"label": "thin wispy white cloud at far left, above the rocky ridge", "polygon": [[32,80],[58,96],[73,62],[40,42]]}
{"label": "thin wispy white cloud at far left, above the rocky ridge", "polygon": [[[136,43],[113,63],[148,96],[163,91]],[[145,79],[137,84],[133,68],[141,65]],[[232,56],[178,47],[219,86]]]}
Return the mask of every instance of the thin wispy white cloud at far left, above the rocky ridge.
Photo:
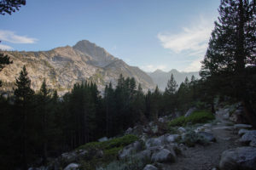
{"label": "thin wispy white cloud at far left, above the rocky ridge", "polygon": [[35,43],[36,38],[18,36],[14,31],[0,30],[0,40],[11,43]]}

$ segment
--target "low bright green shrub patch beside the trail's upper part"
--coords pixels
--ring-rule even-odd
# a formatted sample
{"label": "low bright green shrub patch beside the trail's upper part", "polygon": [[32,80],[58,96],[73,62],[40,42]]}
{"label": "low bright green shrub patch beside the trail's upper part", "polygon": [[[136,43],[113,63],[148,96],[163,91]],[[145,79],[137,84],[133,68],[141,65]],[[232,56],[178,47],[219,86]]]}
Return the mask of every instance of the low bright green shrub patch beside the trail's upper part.
{"label": "low bright green shrub patch beside the trail's upper part", "polygon": [[187,123],[196,124],[204,123],[214,119],[214,116],[209,111],[194,111],[190,116],[180,116],[169,122],[169,127],[185,126]]}

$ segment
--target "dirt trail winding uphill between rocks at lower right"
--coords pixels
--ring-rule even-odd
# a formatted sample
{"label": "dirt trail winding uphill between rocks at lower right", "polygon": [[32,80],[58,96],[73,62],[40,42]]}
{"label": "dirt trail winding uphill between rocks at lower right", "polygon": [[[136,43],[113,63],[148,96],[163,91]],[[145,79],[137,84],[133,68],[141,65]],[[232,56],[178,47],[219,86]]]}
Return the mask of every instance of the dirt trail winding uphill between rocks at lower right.
{"label": "dirt trail winding uphill between rocks at lower right", "polygon": [[166,165],[164,170],[212,170],[218,167],[220,156],[224,150],[239,147],[237,142],[239,136],[234,130],[231,122],[225,121],[222,111],[216,114],[217,124],[211,127],[216,142],[207,146],[196,145],[195,147],[183,150],[182,156],[177,156],[177,161],[171,165]]}

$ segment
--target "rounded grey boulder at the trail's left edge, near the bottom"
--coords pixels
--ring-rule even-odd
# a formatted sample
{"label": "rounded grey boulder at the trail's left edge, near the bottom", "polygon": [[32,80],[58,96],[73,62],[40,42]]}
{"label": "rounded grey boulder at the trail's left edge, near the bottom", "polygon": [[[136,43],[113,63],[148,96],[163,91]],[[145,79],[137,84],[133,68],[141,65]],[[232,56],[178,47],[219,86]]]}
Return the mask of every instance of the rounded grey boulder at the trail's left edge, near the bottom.
{"label": "rounded grey boulder at the trail's left edge, near the bottom", "polygon": [[174,150],[158,150],[154,152],[151,156],[151,161],[153,162],[174,162],[176,161],[176,154]]}

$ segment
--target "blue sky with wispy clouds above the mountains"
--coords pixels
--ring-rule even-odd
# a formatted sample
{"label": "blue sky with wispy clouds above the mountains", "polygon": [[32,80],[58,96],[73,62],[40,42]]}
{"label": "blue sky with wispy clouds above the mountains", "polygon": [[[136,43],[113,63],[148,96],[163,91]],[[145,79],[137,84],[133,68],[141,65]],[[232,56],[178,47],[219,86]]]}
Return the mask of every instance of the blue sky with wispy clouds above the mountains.
{"label": "blue sky with wispy clouds above the mountains", "polygon": [[89,40],[143,71],[199,71],[219,0],[26,0],[0,15],[0,48],[44,51]]}

